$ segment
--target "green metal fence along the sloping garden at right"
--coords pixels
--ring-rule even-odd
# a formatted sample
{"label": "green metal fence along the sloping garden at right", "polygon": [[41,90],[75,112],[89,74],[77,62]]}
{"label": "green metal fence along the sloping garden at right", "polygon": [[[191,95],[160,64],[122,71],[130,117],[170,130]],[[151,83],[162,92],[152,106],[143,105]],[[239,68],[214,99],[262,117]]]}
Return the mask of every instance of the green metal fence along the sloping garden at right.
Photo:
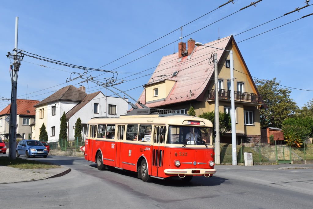
{"label": "green metal fence along the sloping garden at right", "polygon": [[[237,145],[237,163],[244,163],[244,152],[252,153],[253,162],[291,163],[291,161],[313,160],[313,147],[304,144],[303,148],[285,145],[264,145],[241,143]],[[221,163],[232,163],[232,145],[221,144]]]}

